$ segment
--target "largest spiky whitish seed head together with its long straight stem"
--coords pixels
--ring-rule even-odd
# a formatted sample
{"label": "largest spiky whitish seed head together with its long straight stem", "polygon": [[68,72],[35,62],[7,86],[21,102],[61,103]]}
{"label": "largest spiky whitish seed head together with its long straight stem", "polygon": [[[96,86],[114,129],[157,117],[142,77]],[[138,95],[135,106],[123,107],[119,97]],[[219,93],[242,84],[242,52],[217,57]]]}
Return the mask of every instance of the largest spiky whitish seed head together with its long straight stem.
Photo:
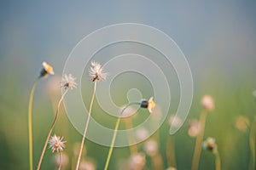
{"label": "largest spiky whitish seed head together with its long straight stem", "polygon": [[80,159],[81,159],[83,147],[84,147],[84,140],[85,140],[85,136],[86,136],[87,129],[89,126],[89,122],[90,122],[91,109],[92,109],[93,101],[94,101],[95,94],[96,94],[96,82],[105,80],[107,77],[107,74],[102,72],[102,65],[100,65],[96,62],[91,62],[89,77],[90,77],[90,81],[94,82],[94,89],[93,89],[93,93],[92,93],[91,100],[90,100],[90,108],[89,108],[88,117],[87,117],[85,127],[84,127],[84,134],[83,134],[83,139],[82,139],[82,142],[80,145],[79,158],[78,158],[76,170],[79,169],[79,163],[80,163]]}

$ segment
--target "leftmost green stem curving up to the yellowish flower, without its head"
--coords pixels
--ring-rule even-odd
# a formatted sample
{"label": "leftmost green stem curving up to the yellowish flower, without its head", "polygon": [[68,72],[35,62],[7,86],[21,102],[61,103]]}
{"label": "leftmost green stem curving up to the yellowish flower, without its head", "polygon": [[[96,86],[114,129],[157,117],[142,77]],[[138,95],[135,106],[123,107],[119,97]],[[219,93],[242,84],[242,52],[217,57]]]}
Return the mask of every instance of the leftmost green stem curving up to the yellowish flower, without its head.
{"label": "leftmost green stem curving up to the yellowish flower, without its head", "polygon": [[35,89],[38,83],[39,77],[33,82],[32,90],[28,103],[28,147],[29,147],[29,168],[33,169],[33,138],[32,138],[32,104]]}

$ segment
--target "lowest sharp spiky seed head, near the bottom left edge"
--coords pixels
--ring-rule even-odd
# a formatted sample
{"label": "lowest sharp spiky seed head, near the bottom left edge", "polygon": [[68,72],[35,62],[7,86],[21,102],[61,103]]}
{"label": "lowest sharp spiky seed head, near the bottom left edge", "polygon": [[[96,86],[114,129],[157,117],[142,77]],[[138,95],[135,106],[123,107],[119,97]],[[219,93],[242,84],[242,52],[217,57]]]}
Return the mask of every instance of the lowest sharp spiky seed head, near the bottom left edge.
{"label": "lowest sharp spiky seed head, near the bottom left edge", "polygon": [[52,150],[52,152],[60,152],[65,148],[65,143],[67,141],[62,141],[63,137],[60,136],[52,136],[49,139],[49,148]]}

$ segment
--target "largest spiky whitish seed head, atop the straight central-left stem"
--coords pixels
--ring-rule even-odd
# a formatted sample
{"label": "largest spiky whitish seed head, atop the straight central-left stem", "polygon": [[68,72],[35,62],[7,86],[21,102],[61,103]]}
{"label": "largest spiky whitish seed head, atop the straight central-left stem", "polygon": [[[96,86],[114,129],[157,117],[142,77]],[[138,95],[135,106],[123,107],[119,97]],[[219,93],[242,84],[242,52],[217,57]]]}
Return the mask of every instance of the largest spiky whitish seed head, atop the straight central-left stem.
{"label": "largest spiky whitish seed head, atop the straight central-left stem", "polygon": [[107,77],[107,73],[102,72],[102,65],[91,62],[89,77],[91,82],[104,81]]}

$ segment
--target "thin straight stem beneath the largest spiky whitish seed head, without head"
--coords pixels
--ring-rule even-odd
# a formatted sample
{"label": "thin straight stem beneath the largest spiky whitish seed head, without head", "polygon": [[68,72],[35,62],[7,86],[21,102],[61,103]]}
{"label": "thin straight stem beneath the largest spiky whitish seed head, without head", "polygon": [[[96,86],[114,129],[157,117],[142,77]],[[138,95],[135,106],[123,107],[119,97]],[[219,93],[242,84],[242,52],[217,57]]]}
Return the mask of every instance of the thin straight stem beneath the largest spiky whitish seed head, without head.
{"label": "thin straight stem beneath the largest spiky whitish seed head, without head", "polygon": [[84,134],[83,134],[83,139],[80,145],[80,150],[79,150],[79,158],[78,158],[78,162],[77,162],[77,166],[76,166],[76,170],[79,169],[79,164],[80,164],[80,160],[81,160],[81,156],[82,156],[82,152],[83,152],[83,147],[84,147],[84,139],[87,133],[87,129],[88,129],[88,125],[90,122],[90,113],[91,113],[91,109],[92,109],[92,104],[95,98],[95,94],[96,94],[96,82],[94,83],[94,90],[93,90],[93,94],[91,96],[91,100],[90,100],[90,108],[89,108],[89,113],[88,113],[88,118],[87,121],[85,123],[85,127],[84,127]]}

